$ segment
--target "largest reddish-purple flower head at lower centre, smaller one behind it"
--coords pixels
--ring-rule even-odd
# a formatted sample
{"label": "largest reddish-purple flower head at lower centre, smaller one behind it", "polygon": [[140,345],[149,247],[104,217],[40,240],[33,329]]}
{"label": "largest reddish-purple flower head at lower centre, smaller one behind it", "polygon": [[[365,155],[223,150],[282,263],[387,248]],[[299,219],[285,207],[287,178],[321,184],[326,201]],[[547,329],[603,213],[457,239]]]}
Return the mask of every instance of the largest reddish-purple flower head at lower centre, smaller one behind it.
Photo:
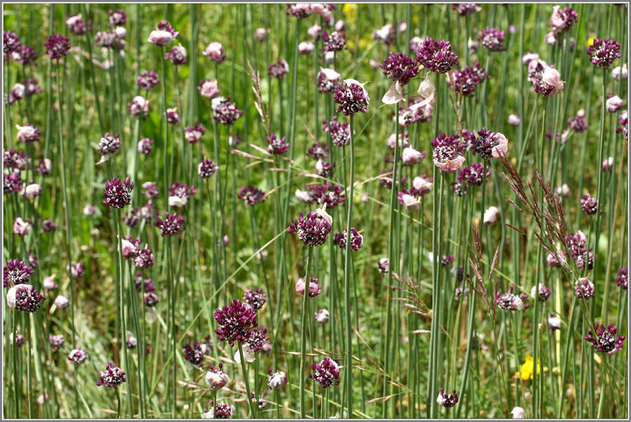
{"label": "largest reddish-purple flower head at lower centre, smaller one behind it", "polygon": [[222,342],[228,342],[234,346],[235,342],[245,343],[250,337],[250,331],[257,328],[257,312],[246,304],[235,299],[229,307],[215,311],[215,321],[219,323],[219,328],[215,330],[217,337]]}

